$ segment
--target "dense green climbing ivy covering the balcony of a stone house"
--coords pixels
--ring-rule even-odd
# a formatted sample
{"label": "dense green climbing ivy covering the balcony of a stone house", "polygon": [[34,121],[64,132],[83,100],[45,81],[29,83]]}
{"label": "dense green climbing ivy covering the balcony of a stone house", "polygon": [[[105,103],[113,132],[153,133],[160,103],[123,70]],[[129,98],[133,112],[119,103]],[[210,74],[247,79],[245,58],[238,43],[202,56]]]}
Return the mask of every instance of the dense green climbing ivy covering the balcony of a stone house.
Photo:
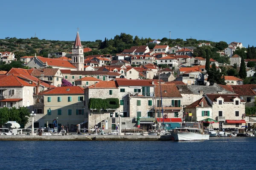
{"label": "dense green climbing ivy covering the balcony of a stone house", "polygon": [[108,99],[99,99],[99,98],[90,98],[89,99],[89,109],[106,110],[106,109],[117,109],[119,108],[119,99],[117,98],[108,98]]}

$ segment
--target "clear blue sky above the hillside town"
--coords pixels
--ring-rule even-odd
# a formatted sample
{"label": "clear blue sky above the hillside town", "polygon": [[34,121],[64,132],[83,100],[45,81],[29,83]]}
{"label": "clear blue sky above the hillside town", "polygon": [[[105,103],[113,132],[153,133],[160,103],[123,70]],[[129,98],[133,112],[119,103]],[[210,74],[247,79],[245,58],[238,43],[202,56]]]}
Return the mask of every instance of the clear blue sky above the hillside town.
{"label": "clear blue sky above the hillside town", "polygon": [[[256,46],[256,1],[252,0],[5,0],[0,39],[82,41],[121,32],[152,39],[195,38]],[[8,9],[8,10],[7,10]]]}

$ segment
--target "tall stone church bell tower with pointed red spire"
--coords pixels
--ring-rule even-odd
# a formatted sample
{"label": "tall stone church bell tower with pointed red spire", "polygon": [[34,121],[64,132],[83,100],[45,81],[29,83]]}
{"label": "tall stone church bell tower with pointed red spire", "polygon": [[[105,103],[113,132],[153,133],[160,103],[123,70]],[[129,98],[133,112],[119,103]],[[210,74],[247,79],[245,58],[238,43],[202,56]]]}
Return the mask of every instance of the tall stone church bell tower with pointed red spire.
{"label": "tall stone church bell tower with pointed red spire", "polygon": [[75,45],[72,49],[72,62],[77,71],[84,71],[84,47],[81,44],[79,33],[76,33]]}

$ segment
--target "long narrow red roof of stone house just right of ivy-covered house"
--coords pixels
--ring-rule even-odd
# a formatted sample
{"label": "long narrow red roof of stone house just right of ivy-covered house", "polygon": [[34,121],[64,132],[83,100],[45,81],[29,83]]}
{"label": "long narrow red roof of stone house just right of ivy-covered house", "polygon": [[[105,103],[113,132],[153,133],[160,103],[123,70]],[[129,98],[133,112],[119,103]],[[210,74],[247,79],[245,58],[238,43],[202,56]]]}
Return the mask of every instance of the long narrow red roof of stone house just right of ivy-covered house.
{"label": "long narrow red roof of stone house just right of ivy-covered house", "polygon": [[117,79],[118,86],[154,86],[152,80],[147,79]]}

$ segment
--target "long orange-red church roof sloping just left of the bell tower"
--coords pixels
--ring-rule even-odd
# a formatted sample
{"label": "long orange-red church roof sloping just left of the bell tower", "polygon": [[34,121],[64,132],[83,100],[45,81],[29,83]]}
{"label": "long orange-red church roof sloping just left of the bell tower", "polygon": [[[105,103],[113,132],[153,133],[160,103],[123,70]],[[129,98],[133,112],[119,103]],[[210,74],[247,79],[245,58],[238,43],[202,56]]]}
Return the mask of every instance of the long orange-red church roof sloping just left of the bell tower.
{"label": "long orange-red church roof sloping just left of the bell tower", "polygon": [[56,66],[56,67],[64,67],[64,68],[76,68],[69,61],[61,60],[61,59],[51,59],[45,57],[37,57],[41,62],[46,63],[47,65]]}

